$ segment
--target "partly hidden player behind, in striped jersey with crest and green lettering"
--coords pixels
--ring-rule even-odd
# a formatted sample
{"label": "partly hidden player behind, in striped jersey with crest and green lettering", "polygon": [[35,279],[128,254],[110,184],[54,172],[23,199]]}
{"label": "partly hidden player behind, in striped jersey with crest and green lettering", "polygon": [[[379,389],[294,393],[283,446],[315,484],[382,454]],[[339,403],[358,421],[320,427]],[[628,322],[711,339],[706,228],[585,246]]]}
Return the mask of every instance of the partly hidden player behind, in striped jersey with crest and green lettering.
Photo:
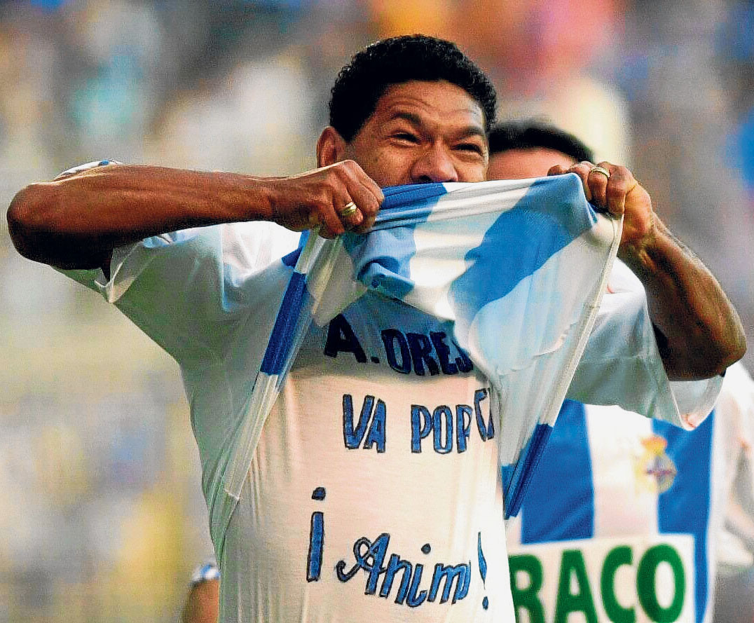
{"label": "partly hidden player behind, in striped jersey with crest and green lettering", "polygon": [[[594,160],[577,137],[541,121],[496,125],[489,151],[490,180]],[[618,260],[608,288],[630,287],[641,285]],[[520,517],[507,526],[516,615],[709,623],[716,539],[738,459],[752,455],[754,382],[741,364],[731,367],[718,406],[694,431],[619,412],[563,405]]]}

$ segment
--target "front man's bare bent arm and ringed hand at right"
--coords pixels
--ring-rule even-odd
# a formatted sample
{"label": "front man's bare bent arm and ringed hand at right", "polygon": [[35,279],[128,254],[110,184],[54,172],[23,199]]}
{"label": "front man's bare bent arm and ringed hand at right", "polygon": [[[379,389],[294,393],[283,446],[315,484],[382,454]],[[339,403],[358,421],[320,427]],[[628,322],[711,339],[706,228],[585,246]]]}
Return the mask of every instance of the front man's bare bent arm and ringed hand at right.
{"label": "front man's bare bent arm and ringed hand at right", "polygon": [[657,218],[631,172],[608,162],[549,171],[560,173],[578,174],[588,201],[624,216],[618,257],[644,285],[668,378],[710,378],[742,358],[746,337],[733,305],[700,259]]}

